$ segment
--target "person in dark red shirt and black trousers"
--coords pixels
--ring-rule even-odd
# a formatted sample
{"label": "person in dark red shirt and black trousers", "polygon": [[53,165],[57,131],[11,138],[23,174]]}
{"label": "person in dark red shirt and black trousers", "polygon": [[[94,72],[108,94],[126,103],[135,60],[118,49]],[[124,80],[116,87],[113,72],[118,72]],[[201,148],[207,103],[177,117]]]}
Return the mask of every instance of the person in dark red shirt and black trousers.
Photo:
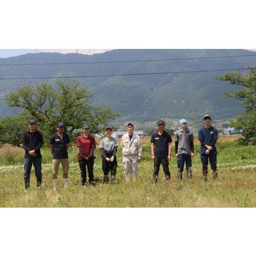
{"label": "person in dark red shirt and black trousers", "polygon": [[77,159],[81,170],[82,185],[86,185],[86,167],[88,169],[89,184],[94,184],[93,165],[94,155],[93,152],[96,148],[96,141],[90,135],[90,126],[82,126],[83,134],[77,137],[76,146],[79,148]]}

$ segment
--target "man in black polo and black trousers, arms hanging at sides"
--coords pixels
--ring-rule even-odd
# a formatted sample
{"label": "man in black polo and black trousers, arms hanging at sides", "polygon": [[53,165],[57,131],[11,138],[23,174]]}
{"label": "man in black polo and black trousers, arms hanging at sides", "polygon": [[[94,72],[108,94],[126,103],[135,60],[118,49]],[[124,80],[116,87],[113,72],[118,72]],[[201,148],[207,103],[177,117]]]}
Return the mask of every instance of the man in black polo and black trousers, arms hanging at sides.
{"label": "man in black polo and black trousers, arms hanging at sides", "polygon": [[171,160],[171,135],[164,131],[166,124],[164,121],[160,120],[157,122],[156,133],[152,134],[151,137],[151,155],[154,161],[154,172],[153,179],[155,182],[158,180],[158,174],[160,169],[160,164],[163,166],[164,174],[166,179],[170,180],[171,173],[169,170],[169,162]]}

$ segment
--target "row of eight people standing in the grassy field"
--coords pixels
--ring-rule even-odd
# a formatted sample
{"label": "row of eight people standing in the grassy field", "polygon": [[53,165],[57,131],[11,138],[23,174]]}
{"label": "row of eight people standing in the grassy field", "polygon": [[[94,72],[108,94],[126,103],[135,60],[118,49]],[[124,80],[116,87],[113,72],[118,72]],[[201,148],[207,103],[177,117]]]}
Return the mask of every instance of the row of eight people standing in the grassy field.
{"label": "row of eight people standing in the grassy field", "polygon": [[[208,178],[208,160],[213,170],[213,179],[217,178],[217,151],[216,141],[218,131],[210,125],[212,119],[209,115],[203,118],[204,127],[199,130],[198,139],[201,143],[200,155],[204,180]],[[42,184],[42,155],[40,148],[43,146],[43,135],[37,130],[36,121],[30,120],[29,130],[23,134],[22,146],[25,150],[24,156],[24,184],[25,189],[30,187],[30,173],[32,164],[35,168],[36,183],[38,187]],[[160,120],[157,122],[157,131],[151,137],[151,157],[154,162],[153,179],[158,180],[160,165],[163,166],[164,175],[170,180],[171,173],[169,162],[171,160],[171,135],[164,128],[166,124]],[[68,146],[69,136],[64,132],[64,123],[57,123],[56,133],[49,139],[50,150],[52,152],[52,186],[57,188],[57,174],[59,166],[63,167],[63,187],[68,186]],[[137,134],[134,133],[134,124],[127,123],[127,133],[121,138],[122,164],[124,168],[125,182],[136,181],[138,175],[139,161],[142,159],[142,143]],[[112,137],[112,127],[106,127],[106,137],[101,139],[100,150],[102,156],[103,182],[115,179],[117,173],[117,139]],[[188,129],[187,120],[180,119],[180,130],[175,133],[175,156],[177,158],[177,178],[183,179],[184,164],[186,164],[187,177],[192,178],[192,158],[194,154],[193,133]],[[89,185],[94,185],[94,151],[96,149],[95,138],[90,135],[90,126],[82,126],[82,134],[77,137],[76,146],[79,149],[77,159],[81,171],[81,183],[87,184],[86,173],[88,172]]]}

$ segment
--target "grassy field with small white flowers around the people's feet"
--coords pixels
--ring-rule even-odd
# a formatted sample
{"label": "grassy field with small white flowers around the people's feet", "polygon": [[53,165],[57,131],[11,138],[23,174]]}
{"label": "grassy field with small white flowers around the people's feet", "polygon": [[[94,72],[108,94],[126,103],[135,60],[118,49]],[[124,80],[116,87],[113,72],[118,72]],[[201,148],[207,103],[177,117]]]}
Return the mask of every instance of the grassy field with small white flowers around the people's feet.
{"label": "grassy field with small white flowers around the people's feet", "polygon": [[51,154],[48,148],[43,148],[42,188],[36,189],[32,170],[31,188],[24,192],[23,150],[19,148],[12,164],[0,156],[0,207],[256,207],[256,146],[240,146],[237,137],[220,137],[217,142],[218,180],[213,181],[209,171],[207,183],[201,174],[197,141],[195,150],[192,180],[187,180],[185,172],[184,179],[177,180],[176,158],[172,150],[171,181],[164,179],[161,167],[159,181],[154,184],[151,180],[150,143],[143,139],[143,158],[139,163],[137,183],[125,184],[119,148],[117,179],[102,184],[101,158],[97,148],[94,164],[96,186],[84,189],[76,160],[77,148],[73,147],[69,153],[68,189],[61,187],[60,168],[59,187],[55,192],[51,184]]}

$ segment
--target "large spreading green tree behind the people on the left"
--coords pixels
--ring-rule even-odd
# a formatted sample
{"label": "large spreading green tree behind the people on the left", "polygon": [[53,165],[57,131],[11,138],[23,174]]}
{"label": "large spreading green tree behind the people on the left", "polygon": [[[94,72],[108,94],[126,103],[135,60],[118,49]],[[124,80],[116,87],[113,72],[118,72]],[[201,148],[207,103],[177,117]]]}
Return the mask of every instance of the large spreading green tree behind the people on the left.
{"label": "large spreading green tree behind the people on the left", "polygon": [[90,104],[92,96],[93,93],[81,88],[79,83],[57,81],[55,86],[47,83],[20,86],[17,92],[6,96],[6,102],[22,108],[23,116],[35,118],[47,138],[56,131],[56,123],[63,121],[74,139],[74,132],[82,123],[88,123],[92,133],[100,133],[118,115],[111,107]]}

